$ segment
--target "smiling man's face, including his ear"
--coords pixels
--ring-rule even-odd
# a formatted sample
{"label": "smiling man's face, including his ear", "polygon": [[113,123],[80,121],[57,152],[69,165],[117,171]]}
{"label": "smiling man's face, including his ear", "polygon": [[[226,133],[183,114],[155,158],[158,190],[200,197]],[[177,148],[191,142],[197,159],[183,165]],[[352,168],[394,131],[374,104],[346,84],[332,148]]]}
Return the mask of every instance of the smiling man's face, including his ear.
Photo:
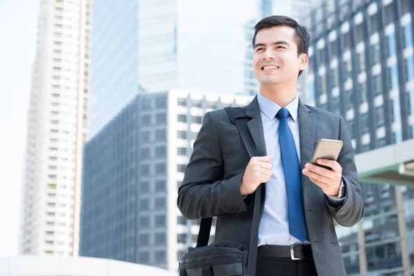
{"label": "smiling man's face, including his ear", "polygon": [[295,30],[288,26],[259,30],[253,50],[253,70],[261,85],[297,81],[308,61],[306,54],[297,56]]}

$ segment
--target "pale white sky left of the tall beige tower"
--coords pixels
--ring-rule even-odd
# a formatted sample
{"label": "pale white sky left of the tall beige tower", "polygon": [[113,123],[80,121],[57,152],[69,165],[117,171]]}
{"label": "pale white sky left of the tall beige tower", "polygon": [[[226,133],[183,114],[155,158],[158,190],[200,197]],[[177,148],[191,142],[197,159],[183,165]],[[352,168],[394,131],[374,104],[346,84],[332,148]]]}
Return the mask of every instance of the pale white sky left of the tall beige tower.
{"label": "pale white sky left of the tall beige tower", "polygon": [[37,0],[0,1],[0,257],[18,252],[23,150]]}

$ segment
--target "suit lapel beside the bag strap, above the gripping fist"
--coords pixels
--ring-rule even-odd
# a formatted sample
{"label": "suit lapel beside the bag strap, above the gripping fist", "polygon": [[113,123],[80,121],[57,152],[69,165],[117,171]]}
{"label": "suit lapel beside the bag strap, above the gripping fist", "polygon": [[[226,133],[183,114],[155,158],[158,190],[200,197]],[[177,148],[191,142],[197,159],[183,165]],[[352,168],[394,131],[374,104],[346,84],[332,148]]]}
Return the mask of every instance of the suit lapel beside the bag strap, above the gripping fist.
{"label": "suit lapel beside the bag strap, above the gripping fist", "polygon": [[250,120],[247,122],[248,130],[252,135],[253,141],[255,141],[255,146],[259,155],[266,156],[266,142],[264,141],[264,131],[262,116],[260,115],[259,103],[257,101],[257,96],[253,101],[246,107],[246,117]]}

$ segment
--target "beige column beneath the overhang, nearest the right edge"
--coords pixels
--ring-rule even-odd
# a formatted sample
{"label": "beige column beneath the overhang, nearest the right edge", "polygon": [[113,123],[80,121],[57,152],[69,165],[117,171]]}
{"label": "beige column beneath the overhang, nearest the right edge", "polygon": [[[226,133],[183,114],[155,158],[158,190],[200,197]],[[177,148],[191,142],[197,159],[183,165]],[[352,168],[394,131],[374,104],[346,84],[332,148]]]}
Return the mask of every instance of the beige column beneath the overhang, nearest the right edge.
{"label": "beige column beneath the overhang, nearest the right edge", "polygon": [[395,201],[397,204],[397,218],[398,229],[400,232],[400,248],[402,268],[404,269],[403,276],[411,276],[411,262],[410,252],[408,250],[408,237],[406,231],[406,218],[404,214],[404,204],[402,203],[402,190],[401,186],[395,186]]}

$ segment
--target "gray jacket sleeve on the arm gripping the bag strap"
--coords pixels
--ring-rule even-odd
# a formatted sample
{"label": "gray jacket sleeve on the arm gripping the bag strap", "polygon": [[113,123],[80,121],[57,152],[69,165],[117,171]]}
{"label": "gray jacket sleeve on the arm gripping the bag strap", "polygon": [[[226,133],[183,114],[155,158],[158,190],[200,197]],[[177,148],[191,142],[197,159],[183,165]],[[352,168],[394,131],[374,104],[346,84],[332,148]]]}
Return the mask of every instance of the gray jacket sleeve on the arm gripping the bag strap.
{"label": "gray jacket sleeve on the arm gripping the bag strap", "polygon": [[243,173],[223,179],[223,167],[217,124],[213,113],[207,112],[178,189],[177,206],[186,219],[247,210],[240,194]]}

